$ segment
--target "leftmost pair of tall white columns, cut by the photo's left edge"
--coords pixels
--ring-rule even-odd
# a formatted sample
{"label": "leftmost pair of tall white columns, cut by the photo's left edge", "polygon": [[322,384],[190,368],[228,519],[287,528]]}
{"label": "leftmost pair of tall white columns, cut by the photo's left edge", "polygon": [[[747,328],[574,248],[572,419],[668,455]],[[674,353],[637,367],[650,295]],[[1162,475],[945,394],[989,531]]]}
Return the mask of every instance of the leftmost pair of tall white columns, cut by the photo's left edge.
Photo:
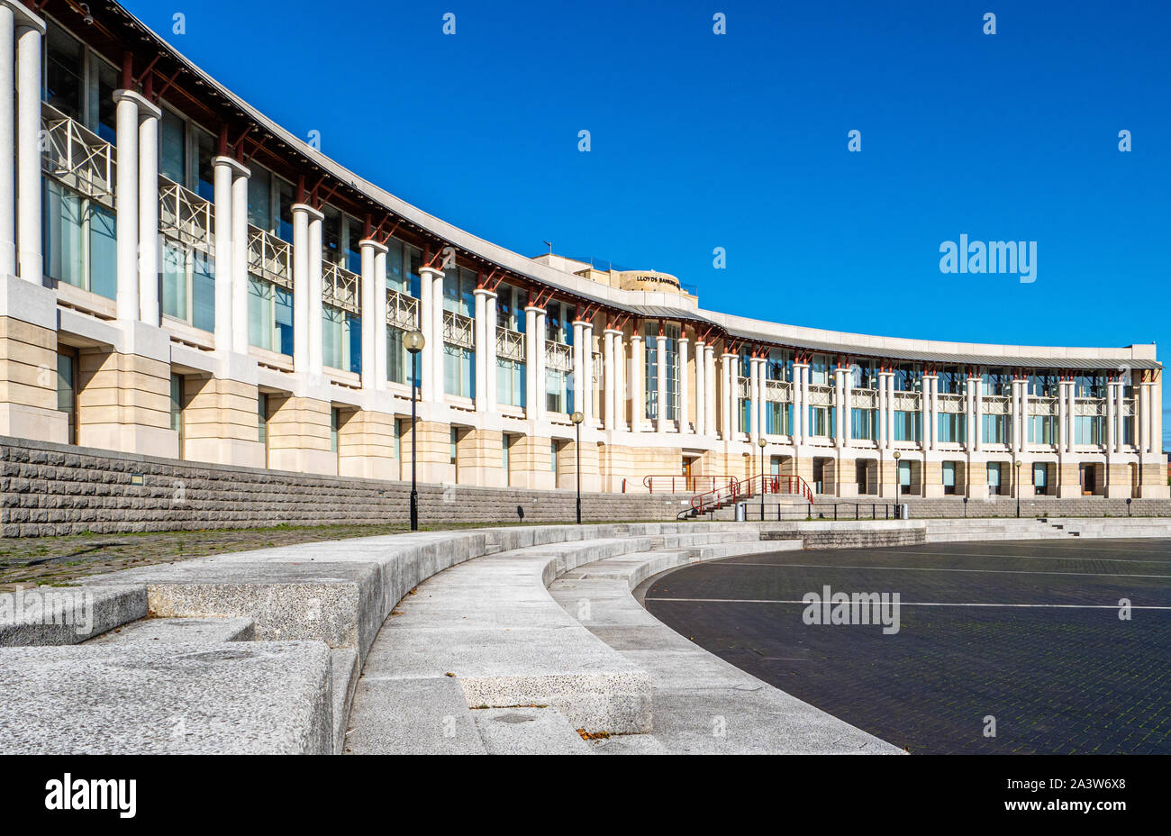
{"label": "leftmost pair of tall white columns, cut by the photo's left edge", "polygon": [[0,274],[40,285],[41,42],[44,21],[0,0]]}

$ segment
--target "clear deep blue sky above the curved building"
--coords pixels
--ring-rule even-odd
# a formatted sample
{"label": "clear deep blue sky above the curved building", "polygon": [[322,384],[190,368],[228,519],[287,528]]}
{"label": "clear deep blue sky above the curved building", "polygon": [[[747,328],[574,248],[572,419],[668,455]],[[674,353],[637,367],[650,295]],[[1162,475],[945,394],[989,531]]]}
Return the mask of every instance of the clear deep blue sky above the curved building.
{"label": "clear deep blue sky above the curved building", "polygon": [[[552,240],[794,324],[1171,356],[1165,0],[124,2],[340,163],[526,255]],[[961,233],[1035,240],[1036,281],[941,274]]]}

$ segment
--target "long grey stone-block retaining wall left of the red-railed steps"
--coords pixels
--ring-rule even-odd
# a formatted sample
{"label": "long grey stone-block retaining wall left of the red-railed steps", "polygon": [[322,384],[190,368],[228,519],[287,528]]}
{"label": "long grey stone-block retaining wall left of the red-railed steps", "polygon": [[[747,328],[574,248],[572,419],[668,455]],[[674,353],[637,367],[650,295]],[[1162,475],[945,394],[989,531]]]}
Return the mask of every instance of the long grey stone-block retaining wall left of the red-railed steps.
{"label": "long grey stone-block retaining wall left of the red-railed steps", "polygon": [[[0,437],[0,534],[409,520],[409,482],[308,475]],[[590,521],[673,520],[682,495],[582,494]],[[419,485],[422,525],[571,522],[571,491]]]}

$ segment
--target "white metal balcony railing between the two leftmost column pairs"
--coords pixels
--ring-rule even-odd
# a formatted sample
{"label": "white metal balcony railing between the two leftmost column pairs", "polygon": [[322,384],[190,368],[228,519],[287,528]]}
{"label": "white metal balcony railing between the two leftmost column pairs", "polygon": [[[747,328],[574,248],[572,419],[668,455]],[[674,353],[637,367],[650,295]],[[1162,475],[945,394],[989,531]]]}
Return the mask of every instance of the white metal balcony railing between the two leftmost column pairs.
{"label": "white metal balcony railing between the two leftmost column pairs", "polygon": [[114,206],[114,146],[50,104],[41,103],[41,167],[61,184]]}

